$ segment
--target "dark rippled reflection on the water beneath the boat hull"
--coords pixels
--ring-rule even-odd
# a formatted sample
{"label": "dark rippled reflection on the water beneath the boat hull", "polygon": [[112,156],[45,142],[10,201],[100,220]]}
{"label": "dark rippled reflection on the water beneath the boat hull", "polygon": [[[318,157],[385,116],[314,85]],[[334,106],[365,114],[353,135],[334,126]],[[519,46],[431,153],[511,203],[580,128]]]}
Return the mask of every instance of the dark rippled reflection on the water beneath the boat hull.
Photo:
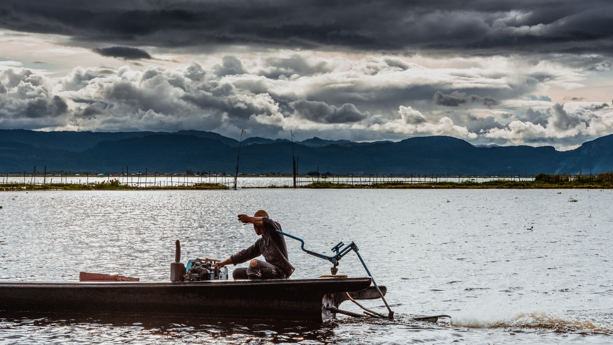
{"label": "dark rippled reflection on the water beneath the boat hull", "polygon": [[[86,316],[13,313],[0,318],[0,343],[10,344],[326,344],[334,322],[279,322],[206,317]],[[10,335],[4,331],[10,330]]]}

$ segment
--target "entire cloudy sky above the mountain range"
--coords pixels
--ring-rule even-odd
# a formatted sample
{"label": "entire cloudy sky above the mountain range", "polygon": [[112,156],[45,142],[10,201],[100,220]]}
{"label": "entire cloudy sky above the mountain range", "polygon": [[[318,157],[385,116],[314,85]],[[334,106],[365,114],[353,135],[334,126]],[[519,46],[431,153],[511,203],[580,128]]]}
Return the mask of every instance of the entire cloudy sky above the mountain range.
{"label": "entire cloudy sky above the mountain range", "polygon": [[573,149],[613,133],[610,0],[0,2],[0,128]]}

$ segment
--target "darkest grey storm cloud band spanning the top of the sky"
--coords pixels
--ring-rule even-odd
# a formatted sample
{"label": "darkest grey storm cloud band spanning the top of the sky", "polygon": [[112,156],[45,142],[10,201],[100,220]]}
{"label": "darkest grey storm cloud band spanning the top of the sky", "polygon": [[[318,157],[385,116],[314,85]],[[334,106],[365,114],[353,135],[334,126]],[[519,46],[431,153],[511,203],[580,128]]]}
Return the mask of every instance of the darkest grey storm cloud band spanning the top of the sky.
{"label": "darkest grey storm cloud band spanning the top of the sky", "polygon": [[83,45],[613,55],[609,0],[4,0],[0,26]]}

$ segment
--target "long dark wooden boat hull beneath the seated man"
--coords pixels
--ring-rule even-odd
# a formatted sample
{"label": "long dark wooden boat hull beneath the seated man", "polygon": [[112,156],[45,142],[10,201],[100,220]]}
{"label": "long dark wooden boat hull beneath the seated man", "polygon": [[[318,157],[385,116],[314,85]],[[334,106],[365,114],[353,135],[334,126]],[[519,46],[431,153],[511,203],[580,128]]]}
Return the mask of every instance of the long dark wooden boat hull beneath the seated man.
{"label": "long dark wooden boat hull beneath the seated man", "polygon": [[[0,310],[311,320],[370,277],[201,282],[1,282]],[[322,302],[323,301],[323,302]]]}

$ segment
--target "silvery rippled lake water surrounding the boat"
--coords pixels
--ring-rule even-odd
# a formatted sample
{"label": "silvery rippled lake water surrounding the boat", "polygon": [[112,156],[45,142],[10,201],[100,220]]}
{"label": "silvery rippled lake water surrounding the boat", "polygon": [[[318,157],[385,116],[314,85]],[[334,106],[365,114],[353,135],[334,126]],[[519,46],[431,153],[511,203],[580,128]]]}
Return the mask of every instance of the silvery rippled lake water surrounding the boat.
{"label": "silvery rippled lake water surrounding the boat", "polygon": [[[611,190],[0,192],[3,281],[76,281],[79,271],[167,281],[175,239],[184,260],[226,258],[257,238],[236,214],[265,209],[309,249],[356,241],[396,313],[322,325],[0,314],[0,345],[612,343],[612,204]],[[329,274],[287,245],[292,278]],[[365,275],[353,254],[339,268]],[[451,322],[410,320],[436,314]]]}

